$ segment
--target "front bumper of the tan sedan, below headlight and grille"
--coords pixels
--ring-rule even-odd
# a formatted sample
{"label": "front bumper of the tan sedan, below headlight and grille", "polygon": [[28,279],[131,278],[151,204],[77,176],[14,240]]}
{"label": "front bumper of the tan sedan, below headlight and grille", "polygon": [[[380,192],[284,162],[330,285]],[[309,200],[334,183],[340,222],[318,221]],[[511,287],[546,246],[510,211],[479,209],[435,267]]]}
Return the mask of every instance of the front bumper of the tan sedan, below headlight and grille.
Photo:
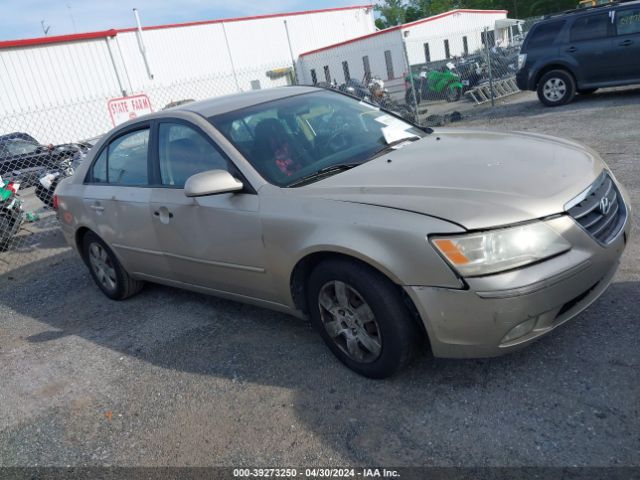
{"label": "front bumper of the tan sedan, below headlight and grille", "polygon": [[[571,243],[570,251],[511,272],[466,279],[466,290],[405,287],[436,357],[491,357],[521,348],[582,312],[606,290],[631,233],[630,216],[606,247],[568,215],[547,224]],[[532,328],[505,339],[527,321]]]}

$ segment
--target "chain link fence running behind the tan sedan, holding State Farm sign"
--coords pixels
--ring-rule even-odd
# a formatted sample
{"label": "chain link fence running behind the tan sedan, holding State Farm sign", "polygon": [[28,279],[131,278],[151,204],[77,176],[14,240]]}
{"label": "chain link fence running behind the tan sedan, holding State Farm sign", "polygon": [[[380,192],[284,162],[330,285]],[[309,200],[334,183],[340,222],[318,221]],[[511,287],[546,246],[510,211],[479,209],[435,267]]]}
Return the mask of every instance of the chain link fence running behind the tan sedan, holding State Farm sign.
{"label": "chain link fence running behind the tan sedan, holding State Farm sign", "polygon": [[295,61],[232,64],[158,83],[146,72],[149,81],[138,88],[132,85],[142,82],[133,79],[144,70],[116,65],[113,52],[120,46],[113,39],[28,52],[0,49],[0,274],[67,248],[53,209],[55,187],[103,134],[129,118],[298,83],[339,89],[413,122],[442,125],[517,92],[519,47],[534,21],[442,35],[397,29]]}

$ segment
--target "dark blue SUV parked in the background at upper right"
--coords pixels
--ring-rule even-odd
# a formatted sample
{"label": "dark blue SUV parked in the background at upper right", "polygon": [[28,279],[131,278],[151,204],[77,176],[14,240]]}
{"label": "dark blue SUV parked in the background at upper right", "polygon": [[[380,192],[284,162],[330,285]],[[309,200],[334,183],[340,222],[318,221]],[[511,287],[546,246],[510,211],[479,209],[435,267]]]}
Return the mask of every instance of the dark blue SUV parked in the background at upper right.
{"label": "dark blue SUV parked in the background at upper right", "polygon": [[576,93],[640,83],[640,0],[555,15],[535,24],[522,45],[520,90],[550,107]]}

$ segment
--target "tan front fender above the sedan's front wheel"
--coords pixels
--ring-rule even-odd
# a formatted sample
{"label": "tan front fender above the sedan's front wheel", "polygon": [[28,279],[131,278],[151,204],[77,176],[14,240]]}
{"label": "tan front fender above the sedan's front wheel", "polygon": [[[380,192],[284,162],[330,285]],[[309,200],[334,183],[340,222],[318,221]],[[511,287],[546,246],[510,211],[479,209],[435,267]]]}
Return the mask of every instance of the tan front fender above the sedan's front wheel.
{"label": "tan front fender above the sedan's front wheel", "polygon": [[398,285],[461,288],[460,279],[427,241],[432,233],[463,232],[458,225],[337,200],[297,197],[293,206],[284,197],[265,199],[261,212],[267,269],[283,303],[292,305],[290,279],[295,266],[317,253],[356,258]]}

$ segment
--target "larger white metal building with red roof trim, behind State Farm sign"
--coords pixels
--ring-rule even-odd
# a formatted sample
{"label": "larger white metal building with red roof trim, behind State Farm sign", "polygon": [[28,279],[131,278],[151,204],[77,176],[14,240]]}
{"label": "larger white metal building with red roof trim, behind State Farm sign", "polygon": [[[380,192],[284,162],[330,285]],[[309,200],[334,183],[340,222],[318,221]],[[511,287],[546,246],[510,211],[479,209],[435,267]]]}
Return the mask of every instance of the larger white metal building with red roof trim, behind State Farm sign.
{"label": "larger white metal building with red roof trim, behind State Farm sign", "polygon": [[267,72],[372,32],[373,8],[364,5],[3,41],[0,134],[52,143],[100,135],[112,127],[109,99],[145,94],[158,110],[282,85],[285,77]]}

